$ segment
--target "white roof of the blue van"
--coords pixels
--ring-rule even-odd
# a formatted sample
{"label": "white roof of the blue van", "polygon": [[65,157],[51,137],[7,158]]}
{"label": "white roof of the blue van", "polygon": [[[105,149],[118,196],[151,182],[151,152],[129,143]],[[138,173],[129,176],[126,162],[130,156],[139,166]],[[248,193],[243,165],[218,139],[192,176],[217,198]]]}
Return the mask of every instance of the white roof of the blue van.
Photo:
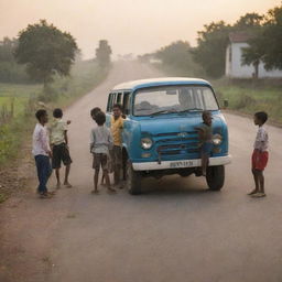
{"label": "white roof of the blue van", "polygon": [[210,84],[200,78],[187,77],[159,77],[149,79],[139,79],[116,85],[112,90],[135,90],[139,88],[165,86],[165,85],[208,85]]}

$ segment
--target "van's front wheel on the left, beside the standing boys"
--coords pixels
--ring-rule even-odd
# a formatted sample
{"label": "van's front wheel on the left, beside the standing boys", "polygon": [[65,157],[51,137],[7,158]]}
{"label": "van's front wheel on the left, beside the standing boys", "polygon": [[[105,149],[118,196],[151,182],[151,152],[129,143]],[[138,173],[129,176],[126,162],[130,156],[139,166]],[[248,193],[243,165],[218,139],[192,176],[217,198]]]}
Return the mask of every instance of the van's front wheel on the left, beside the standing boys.
{"label": "van's front wheel on the left, beside the standing boys", "polygon": [[142,193],[142,176],[140,172],[137,172],[132,167],[132,163],[130,160],[127,162],[127,180],[126,180],[126,186],[131,195],[138,195]]}

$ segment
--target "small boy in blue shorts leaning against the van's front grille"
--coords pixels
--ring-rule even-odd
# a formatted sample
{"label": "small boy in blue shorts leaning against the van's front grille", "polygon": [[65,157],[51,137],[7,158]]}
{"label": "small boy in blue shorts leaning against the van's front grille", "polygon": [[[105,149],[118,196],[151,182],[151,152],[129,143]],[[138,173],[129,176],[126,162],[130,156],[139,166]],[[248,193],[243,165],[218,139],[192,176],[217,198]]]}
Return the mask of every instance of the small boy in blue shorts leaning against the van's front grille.
{"label": "small boy in blue shorts leaning against the van's front grille", "polygon": [[202,159],[202,174],[206,176],[208,158],[210,156],[213,150],[213,130],[212,122],[213,117],[209,111],[203,111],[202,113],[203,123],[200,127],[196,128],[199,135],[199,148],[200,148],[200,159]]}

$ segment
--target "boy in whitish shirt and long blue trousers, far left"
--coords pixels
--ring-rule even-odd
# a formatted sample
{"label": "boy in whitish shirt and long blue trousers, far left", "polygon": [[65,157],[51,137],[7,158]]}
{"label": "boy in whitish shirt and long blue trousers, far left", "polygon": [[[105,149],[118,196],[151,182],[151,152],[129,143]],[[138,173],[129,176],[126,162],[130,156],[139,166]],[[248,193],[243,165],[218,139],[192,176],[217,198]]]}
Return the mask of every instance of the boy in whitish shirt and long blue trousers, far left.
{"label": "boy in whitish shirt and long blue trousers, far left", "polygon": [[50,165],[50,158],[52,152],[48,144],[48,133],[45,124],[48,121],[48,115],[46,110],[37,110],[35,113],[39,122],[35,126],[32,138],[32,154],[35,159],[37,177],[39,177],[39,187],[37,193],[41,198],[48,198],[53,194],[48,193],[46,184],[51,176],[52,169]]}

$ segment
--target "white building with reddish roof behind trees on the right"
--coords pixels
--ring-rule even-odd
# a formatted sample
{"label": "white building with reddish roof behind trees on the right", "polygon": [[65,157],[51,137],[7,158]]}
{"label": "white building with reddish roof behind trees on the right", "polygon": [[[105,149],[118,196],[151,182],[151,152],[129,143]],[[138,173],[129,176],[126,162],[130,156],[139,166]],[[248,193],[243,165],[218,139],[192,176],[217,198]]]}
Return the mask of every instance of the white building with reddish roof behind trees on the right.
{"label": "white building with reddish roof behind trees on the right", "polygon": [[[231,32],[229,34],[229,44],[226,48],[225,75],[230,78],[251,78],[254,75],[252,65],[242,65],[242,48],[248,47],[250,39],[246,32]],[[259,78],[281,78],[282,70],[265,70],[262,63],[259,64]]]}

